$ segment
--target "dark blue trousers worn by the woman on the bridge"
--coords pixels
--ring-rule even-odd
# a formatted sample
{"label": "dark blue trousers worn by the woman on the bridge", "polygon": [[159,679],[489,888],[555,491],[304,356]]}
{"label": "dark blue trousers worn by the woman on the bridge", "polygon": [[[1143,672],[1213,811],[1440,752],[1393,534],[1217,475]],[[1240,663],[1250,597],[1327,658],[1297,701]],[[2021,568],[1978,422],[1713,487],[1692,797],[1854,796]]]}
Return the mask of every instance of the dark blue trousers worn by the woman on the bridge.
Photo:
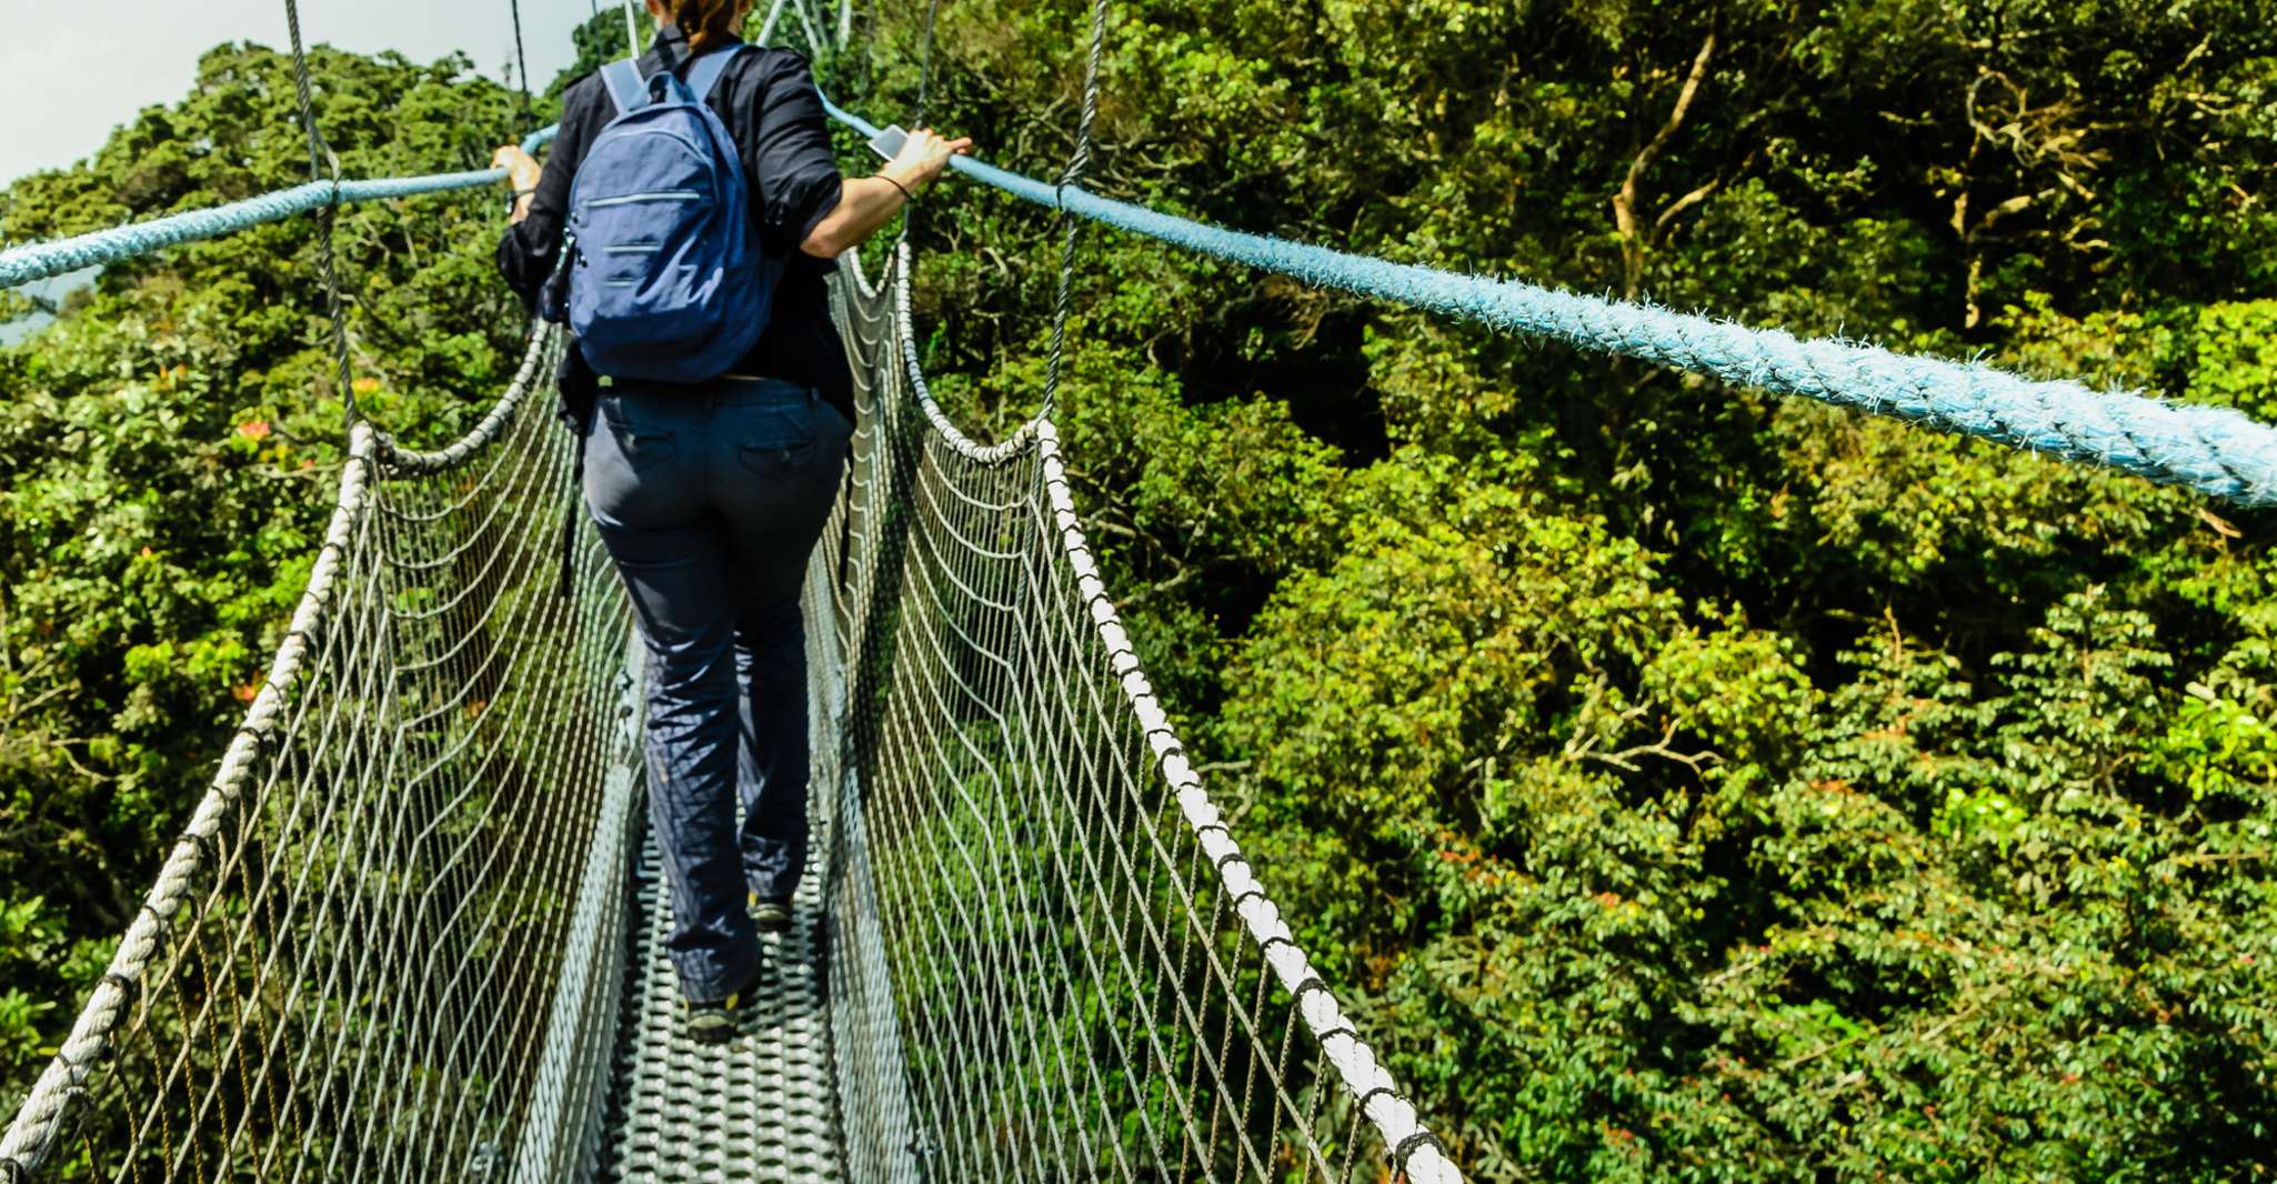
{"label": "dark blue trousers worn by the woman on the bridge", "polygon": [[694,1002],[749,981],[745,893],[788,897],[806,863],[799,587],[852,430],[808,387],[722,378],[617,383],[585,437],[585,508],[649,644],[649,817]]}

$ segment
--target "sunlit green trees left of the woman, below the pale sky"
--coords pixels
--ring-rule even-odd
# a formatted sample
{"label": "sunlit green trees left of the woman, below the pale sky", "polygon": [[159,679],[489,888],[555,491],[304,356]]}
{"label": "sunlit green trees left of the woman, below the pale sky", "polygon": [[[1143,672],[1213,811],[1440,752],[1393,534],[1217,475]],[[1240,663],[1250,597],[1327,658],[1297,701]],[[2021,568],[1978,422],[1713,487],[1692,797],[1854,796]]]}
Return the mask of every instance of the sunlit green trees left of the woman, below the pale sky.
{"label": "sunlit green trees left of the woman, below the pale sky", "polygon": [[[465,59],[310,66],[348,175],[476,168],[517,139],[517,96]],[[0,237],[301,180],[289,59],[223,46],[182,102],[16,182]],[[357,398],[408,439],[471,426],[512,371],[496,225],[496,194],[337,221]],[[307,581],[344,412],[314,262],[314,219],[121,262],[0,351],[0,1095],[75,1018]]]}

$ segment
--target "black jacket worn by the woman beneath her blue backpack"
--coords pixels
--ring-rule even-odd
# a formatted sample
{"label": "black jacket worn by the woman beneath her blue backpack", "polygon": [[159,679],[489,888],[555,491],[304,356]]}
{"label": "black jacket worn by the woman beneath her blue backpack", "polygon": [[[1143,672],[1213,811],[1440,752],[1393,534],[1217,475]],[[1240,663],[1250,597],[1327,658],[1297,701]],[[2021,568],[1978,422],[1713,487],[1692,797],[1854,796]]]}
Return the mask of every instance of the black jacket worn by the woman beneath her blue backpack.
{"label": "black jacket worn by the woman beneath her blue backpack", "polygon": [[[715,50],[717,52],[717,50]],[[688,75],[688,36],[665,25],[649,52],[640,55],[640,75],[658,71]],[[767,330],[751,353],[733,367],[735,373],[783,378],[815,387],[847,419],[854,419],[854,376],[845,348],[831,326],[822,278],[829,260],[799,250],[806,235],[838,207],[840,175],[831,155],[831,134],[822,116],[806,59],[790,50],[745,50],[720,75],[710,109],[726,123],[751,180],[751,216],[758,246],[783,257],[783,278],[774,289]],[[535,310],[537,289],[553,273],[562,246],[562,223],[569,214],[569,182],[601,128],[617,118],[617,102],[599,75],[585,75],[562,93],[562,130],[553,139],[546,171],[531,198],[531,214],[505,228],[499,239],[499,271]],[[562,403],[576,419],[592,408],[594,376],[572,351],[562,364]]]}

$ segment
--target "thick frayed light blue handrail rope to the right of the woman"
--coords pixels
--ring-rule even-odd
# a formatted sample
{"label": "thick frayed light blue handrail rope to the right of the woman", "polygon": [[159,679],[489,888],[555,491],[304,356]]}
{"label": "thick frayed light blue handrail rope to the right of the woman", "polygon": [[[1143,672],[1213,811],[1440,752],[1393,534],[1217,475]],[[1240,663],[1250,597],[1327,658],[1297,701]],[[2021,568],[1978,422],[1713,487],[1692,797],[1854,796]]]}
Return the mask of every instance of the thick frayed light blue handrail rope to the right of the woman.
{"label": "thick frayed light blue handrail rope to the right of the woman", "polygon": [[[827,98],[822,105],[840,123],[877,134],[861,116]],[[1059,207],[1061,198],[1050,182],[970,157],[952,157],[950,166],[1006,194]],[[1066,189],[1066,209],[1318,287],[2109,464],[2243,505],[2277,505],[2277,428],[2231,408],[2031,380],[1974,362],[1910,357],[1853,342],[1806,342],[1776,328],[1758,330],[1630,301],[1346,255],[1175,219],[1075,187]]]}

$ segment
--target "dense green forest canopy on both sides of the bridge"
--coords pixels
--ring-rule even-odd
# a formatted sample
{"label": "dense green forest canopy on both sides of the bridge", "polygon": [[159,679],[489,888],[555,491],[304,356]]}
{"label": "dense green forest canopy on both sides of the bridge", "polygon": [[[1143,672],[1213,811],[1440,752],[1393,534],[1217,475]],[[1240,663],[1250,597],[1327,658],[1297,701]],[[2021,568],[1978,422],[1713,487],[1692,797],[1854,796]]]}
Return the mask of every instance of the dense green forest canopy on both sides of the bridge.
{"label": "dense green forest canopy on both sides of the bridge", "polygon": [[[929,121],[1054,175],[1086,11],[940,5]],[[863,11],[817,75],[909,123],[924,25]],[[515,139],[462,59],[314,68],[351,175]],[[223,46],[0,235],[305,180],[289,105]],[[1127,0],[1086,187],[2277,419],[2272,166],[2247,0]],[[510,369],[499,207],[339,221],[392,428]],[[913,230],[934,389],[1006,428],[1050,212],[952,180]],[[116,264],[0,348],[0,1079],[68,1027],[305,576],[339,437],[312,244]],[[2277,1173],[2268,512],[1095,228],[1070,332],[1148,672],[1471,1177]]]}

